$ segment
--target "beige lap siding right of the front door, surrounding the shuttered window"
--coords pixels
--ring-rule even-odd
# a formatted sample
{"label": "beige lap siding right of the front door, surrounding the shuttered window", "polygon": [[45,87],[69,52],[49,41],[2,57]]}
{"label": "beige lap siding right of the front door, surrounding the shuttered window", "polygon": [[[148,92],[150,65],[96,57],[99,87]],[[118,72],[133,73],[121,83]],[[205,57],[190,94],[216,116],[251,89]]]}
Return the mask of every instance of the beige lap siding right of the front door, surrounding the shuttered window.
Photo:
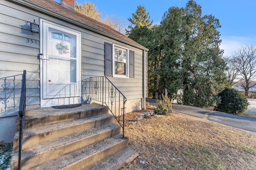
{"label": "beige lap siding right of the front door, surrounding the shuttered window", "polygon": [[[82,33],[82,78],[104,76],[104,43],[123,45],[106,37],[87,32]],[[84,43],[84,44],[83,44]],[[126,96],[128,100],[142,98],[142,50],[128,47],[134,51],[134,78],[114,78],[110,81]]]}

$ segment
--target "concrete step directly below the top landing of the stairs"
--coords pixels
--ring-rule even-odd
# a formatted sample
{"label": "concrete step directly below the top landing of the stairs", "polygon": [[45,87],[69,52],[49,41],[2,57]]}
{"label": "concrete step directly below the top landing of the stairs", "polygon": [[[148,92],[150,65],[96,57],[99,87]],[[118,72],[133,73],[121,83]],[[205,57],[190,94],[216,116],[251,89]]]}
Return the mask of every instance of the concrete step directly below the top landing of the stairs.
{"label": "concrete step directly below the top landing of the stairs", "polygon": [[[25,129],[23,135],[22,148],[26,148],[38,143],[51,141],[60,137],[71,135],[74,133],[86,131],[88,129],[99,127],[114,122],[114,117],[110,114],[102,114],[94,117],[86,117],[68,122],[36,127],[33,129]],[[13,148],[18,149],[19,132],[15,133],[13,140]]]}

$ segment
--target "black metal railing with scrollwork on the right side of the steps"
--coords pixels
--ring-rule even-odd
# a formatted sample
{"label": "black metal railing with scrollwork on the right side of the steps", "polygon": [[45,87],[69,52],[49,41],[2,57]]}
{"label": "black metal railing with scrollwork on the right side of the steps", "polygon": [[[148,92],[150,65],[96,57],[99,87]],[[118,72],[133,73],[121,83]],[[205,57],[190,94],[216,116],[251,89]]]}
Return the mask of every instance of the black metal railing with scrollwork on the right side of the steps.
{"label": "black metal railing with scrollwork on the right side of the steps", "polygon": [[[87,100],[88,95],[92,100],[101,102],[102,106],[105,104],[108,107],[122,127],[124,138],[124,113],[127,100],[124,94],[107,77],[101,76],[82,80],[82,96]],[[120,119],[121,115],[122,120]]]}

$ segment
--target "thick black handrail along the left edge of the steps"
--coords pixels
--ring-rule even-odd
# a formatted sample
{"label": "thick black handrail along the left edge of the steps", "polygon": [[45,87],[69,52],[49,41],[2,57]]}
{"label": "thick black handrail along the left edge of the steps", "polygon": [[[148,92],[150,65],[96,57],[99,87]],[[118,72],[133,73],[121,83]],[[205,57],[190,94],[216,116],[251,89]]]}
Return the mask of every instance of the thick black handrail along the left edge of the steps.
{"label": "thick black handrail along the left edge of the steps", "polygon": [[19,135],[18,170],[20,170],[20,167],[21,167],[22,139],[23,139],[25,115],[26,115],[26,70],[23,71],[22,87],[21,87],[21,94],[20,94],[20,107],[19,107],[20,135]]}

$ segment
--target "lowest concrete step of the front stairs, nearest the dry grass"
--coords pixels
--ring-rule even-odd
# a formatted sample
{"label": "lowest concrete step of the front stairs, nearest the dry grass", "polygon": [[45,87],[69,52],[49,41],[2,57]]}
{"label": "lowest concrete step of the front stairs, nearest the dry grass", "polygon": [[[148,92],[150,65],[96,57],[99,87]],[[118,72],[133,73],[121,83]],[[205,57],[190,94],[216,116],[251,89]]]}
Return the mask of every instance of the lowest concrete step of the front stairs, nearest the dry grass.
{"label": "lowest concrete step of the front stairs, nearest the dry grass", "polygon": [[138,152],[135,152],[130,147],[126,147],[95,165],[90,166],[90,168],[86,170],[119,170],[122,166],[132,162],[137,156]]}

